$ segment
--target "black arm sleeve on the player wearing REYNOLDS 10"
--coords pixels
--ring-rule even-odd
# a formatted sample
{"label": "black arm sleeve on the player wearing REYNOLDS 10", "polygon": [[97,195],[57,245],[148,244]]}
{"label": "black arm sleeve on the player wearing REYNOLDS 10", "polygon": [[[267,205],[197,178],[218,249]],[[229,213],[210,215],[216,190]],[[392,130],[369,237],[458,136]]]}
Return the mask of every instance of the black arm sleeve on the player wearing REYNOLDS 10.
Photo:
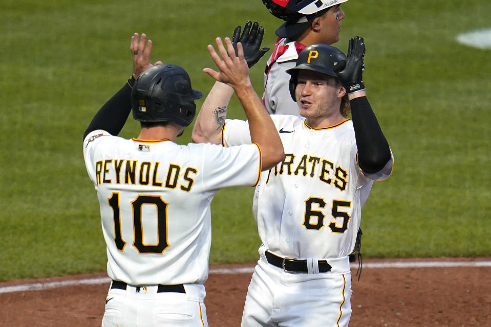
{"label": "black arm sleeve on the player wearing REYNOLDS 10", "polygon": [[126,123],[131,111],[131,89],[135,79],[132,77],[108,102],[97,111],[83,133],[83,139],[97,129],[103,129],[111,135],[118,135]]}

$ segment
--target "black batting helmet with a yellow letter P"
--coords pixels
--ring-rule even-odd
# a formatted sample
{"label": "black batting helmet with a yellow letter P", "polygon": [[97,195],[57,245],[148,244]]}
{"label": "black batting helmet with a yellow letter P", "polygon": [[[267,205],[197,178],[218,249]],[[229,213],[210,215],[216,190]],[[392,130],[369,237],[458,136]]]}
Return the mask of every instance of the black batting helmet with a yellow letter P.
{"label": "black batting helmet with a yellow letter P", "polygon": [[298,72],[301,70],[314,71],[329,76],[337,77],[334,71],[334,65],[345,61],[347,58],[343,51],[335,48],[332,45],[327,44],[312,44],[307,46],[296,60],[296,66],[287,69],[287,73],[290,77],[290,95],[293,101],[295,99],[295,88],[297,84]]}

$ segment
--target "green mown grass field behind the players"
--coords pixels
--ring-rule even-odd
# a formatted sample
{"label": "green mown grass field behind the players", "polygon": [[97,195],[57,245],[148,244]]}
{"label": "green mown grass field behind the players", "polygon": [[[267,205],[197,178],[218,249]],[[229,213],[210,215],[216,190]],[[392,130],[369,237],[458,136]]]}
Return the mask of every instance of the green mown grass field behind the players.
{"label": "green mown grass field behind the players", "polygon": [[[350,37],[365,38],[365,85],[395,156],[393,175],[374,184],[364,207],[365,258],[491,254],[491,50],[455,41],[491,25],[491,3],[350,0],[342,8],[335,45],[346,51]],[[153,61],[184,67],[206,94],[206,45],[247,20],[265,27],[272,46],[280,21],[260,0],[0,3],[0,281],[105,270],[81,141],[132,72],[131,35],[146,33]],[[265,62],[251,71],[258,92]],[[230,107],[230,118],[243,117],[236,99]],[[130,119],[120,135],[138,128]],[[252,191],[217,194],[211,264],[257,259]]]}

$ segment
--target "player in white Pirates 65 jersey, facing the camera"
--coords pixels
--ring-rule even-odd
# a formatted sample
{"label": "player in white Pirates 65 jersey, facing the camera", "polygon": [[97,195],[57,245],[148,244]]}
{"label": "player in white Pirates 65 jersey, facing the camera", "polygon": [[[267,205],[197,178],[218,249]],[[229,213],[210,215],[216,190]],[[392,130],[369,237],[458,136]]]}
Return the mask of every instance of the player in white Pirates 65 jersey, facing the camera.
{"label": "player in white Pirates 65 jersey, facing the camera", "polygon": [[[333,46],[313,44],[288,71],[290,95],[305,118],[271,115],[285,159],[262,172],[255,189],[253,215],[263,244],[243,327],[349,323],[348,255],[361,208],[373,180],[387,178],[393,165],[361,79],[364,56],[359,37],[350,40],[348,57]],[[246,122],[222,123],[231,93],[230,87],[215,84],[198,115],[193,141],[227,147],[249,142]]]}

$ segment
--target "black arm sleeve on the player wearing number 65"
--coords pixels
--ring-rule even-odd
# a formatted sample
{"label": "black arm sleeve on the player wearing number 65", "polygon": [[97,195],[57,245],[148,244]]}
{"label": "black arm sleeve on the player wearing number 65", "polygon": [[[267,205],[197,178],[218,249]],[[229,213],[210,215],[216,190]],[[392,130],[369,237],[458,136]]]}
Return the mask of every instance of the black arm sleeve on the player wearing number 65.
{"label": "black arm sleeve on the player wearing number 65", "polygon": [[373,113],[367,97],[350,101],[351,118],[358,147],[358,165],[367,173],[376,173],[387,165],[391,152],[387,139]]}

